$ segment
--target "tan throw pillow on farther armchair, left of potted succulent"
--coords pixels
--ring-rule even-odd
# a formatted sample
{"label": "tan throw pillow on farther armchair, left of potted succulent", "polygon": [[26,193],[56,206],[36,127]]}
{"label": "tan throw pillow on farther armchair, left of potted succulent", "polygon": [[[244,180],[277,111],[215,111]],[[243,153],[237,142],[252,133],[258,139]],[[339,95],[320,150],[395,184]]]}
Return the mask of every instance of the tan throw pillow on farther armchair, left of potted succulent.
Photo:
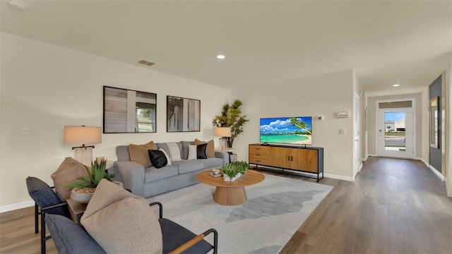
{"label": "tan throw pillow on farther armchair, left of potted succulent", "polygon": [[71,198],[72,188],[64,187],[66,183],[73,183],[79,176],[87,176],[83,164],[76,161],[71,157],[66,157],[59,165],[57,171],[52,173],[52,179],[54,180],[55,191],[61,200]]}

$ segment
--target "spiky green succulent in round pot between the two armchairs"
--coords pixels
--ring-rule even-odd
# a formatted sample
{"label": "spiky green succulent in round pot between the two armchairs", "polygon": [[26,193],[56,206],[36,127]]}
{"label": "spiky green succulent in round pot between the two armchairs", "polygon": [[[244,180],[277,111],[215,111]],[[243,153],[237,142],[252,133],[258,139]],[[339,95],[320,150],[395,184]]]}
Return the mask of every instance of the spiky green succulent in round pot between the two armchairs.
{"label": "spiky green succulent in round pot between the two armchairs", "polygon": [[80,176],[73,183],[66,183],[64,187],[73,188],[71,191],[71,200],[78,202],[88,202],[99,184],[100,180],[107,179],[112,181],[114,174],[105,171],[107,159],[100,159],[91,162],[91,169],[83,165],[88,172],[88,177]]}

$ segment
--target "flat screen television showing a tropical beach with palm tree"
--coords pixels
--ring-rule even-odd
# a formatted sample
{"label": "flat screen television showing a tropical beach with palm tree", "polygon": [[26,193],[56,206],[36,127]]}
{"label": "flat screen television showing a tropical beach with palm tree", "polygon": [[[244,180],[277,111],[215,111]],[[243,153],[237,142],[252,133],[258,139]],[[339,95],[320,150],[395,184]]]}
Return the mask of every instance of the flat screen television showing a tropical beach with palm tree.
{"label": "flat screen television showing a tropical beach with palm tree", "polygon": [[261,143],[312,145],[312,117],[262,118]]}

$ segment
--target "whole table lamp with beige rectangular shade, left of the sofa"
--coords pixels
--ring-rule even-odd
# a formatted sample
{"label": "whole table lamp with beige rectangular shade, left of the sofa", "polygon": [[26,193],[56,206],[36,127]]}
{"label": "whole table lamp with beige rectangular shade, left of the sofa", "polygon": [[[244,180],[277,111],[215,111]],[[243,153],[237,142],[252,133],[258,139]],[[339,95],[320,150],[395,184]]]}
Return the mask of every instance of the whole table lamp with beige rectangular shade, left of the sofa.
{"label": "whole table lamp with beige rectangular shade, left of the sofa", "polygon": [[64,144],[81,145],[72,147],[74,159],[85,165],[93,162],[94,145],[85,146],[85,144],[102,143],[102,133],[100,127],[90,126],[64,126]]}

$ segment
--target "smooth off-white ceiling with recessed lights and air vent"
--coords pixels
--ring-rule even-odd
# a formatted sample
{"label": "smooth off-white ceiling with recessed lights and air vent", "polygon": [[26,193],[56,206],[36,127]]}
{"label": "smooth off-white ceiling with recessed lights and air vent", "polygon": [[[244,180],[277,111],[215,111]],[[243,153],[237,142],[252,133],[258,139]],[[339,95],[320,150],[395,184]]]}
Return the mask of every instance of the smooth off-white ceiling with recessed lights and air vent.
{"label": "smooth off-white ceiling with recessed lights and air vent", "polygon": [[452,52],[452,1],[23,1],[1,31],[231,89],[354,69],[419,90]]}

